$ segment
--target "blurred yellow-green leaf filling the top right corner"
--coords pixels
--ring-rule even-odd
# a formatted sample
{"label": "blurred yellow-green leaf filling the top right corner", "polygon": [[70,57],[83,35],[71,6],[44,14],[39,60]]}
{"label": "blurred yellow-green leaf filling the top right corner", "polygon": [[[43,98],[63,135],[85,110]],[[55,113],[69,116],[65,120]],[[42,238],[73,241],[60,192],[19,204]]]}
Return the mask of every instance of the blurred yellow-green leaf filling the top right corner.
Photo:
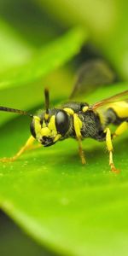
{"label": "blurred yellow-green leaf filling the top right corner", "polygon": [[[119,75],[128,79],[127,1],[38,0],[66,27],[84,25],[91,43],[108,58]],[[54,8],[56,6],[56,8]]]}

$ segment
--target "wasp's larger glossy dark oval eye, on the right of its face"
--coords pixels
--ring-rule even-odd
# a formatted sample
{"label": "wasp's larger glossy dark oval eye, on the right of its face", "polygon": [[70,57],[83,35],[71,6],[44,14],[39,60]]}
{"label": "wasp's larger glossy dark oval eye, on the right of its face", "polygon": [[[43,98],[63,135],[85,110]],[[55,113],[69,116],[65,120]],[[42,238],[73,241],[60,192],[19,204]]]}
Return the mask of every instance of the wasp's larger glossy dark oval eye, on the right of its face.
{"label": "wasp's larger glossy dark oval eye, on the right of its face", "polygon": [[69,129],[70,121],[67,113],[64,110],[59,111],[55,116],[56,130],[64,136]]}

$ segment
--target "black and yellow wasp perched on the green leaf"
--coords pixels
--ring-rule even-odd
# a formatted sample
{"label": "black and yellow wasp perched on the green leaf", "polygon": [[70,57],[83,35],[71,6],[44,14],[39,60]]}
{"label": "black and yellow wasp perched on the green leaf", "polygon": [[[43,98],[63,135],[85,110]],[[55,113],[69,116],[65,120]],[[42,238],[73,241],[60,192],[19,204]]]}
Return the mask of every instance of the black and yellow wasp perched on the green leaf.
{"label": "black and yellow wasp perched on the green leaf", "polygon": [[[77,86],[75,84],[75,88]],[[73,89],[74,91],[74,89]],[[109,166],[112,172],[118,172],[113,164],[113,137],[117,137],[128,129],[128,90],[101,102],[89,105],[86,102],[67,102],[60,108],[49,108],[49,90],[44,90],[45,110],[38,115],[14,108],[0,107],[0,111],[20,113],[32,118],[30,130],[32,136],[20,151],[11,158],[3,158],[1,162],[17,160],[28,148],[34,148],[37,140],[40,147],[49,147],[59,141],[72,137],[79,143],[79,155],[83,164],[86,160],[82,148],[82,140],[90,137],[99,142],[106,142],[109,153]],[[118,125],[111,134],[110,124]]]}

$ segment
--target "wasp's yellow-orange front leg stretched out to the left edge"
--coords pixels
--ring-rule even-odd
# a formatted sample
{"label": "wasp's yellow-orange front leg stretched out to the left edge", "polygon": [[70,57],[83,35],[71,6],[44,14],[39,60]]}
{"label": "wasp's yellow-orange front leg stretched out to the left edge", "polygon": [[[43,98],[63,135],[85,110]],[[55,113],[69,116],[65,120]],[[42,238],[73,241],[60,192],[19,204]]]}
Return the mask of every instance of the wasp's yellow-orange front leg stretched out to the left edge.
{"label": "wasp's yellow-orange front leg stretched out to the left edge", "polygon": [[35,141],[34,137],[32,136],[29,137],[29,139],[26,141],[26,144],[22,148],[20,148],[20,151],[18,151],[18,153],[15,154],[15,156],[9,157],[9,158],[2,158],[0,159],[0,162],[3,162],[3,163],[13,162],[17,160],[17,158],[19,158],[20,155],[23,154],[26,150],[32,149],[32,148],[39,148],[41,145],[33,145],[34,141]]}

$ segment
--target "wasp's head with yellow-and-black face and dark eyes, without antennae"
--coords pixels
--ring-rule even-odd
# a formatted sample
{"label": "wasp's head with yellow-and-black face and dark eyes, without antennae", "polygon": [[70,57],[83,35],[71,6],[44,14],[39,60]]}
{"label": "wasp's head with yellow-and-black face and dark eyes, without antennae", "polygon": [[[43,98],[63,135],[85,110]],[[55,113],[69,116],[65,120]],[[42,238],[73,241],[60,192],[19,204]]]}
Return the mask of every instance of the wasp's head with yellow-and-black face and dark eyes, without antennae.
{"label": "wasp's head with yellow-and-black face and dark eyes, without antennae", "polygon": [[63,109],[49,110],[39,117],[33,116],[31,123],[32,136],[44,147],[51,146],[67,134],[70,127],[69,115]]}

